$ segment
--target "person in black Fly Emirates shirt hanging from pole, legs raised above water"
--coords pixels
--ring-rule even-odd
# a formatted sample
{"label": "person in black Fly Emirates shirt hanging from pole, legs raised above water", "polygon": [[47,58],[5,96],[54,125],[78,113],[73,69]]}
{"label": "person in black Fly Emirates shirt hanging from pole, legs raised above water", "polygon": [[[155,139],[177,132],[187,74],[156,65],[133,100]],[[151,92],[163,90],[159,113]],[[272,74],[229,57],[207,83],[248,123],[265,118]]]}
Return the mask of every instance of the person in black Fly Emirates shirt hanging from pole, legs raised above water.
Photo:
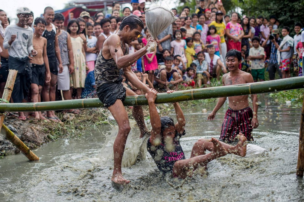
{"label": "person in black Fly Emirates shirt hanging from pole, legs raised above water", "polygon": [[[167,93],[171,92],[173,91],[167,91]],[[147,151],[161,173],[171,172],[174,177],[179,178],[191,177],[192,171],[199,166],[206,166],[208,162],[216,158],[226,154],[236,154],[241,157],[246,155],[247,145],[245,142],[247,139],[240,133],[237,135],[240,140],[235,146],[220,142],[213,137],[211,139],[199,139],[193,145],[190,158],[186,159],[179,142],[179,138],[186,134],[184,114],[178,103],[175,102],[173,106],[177,123],[174,124],[171,117],[160,118],[155,106],[156,95],[155,90],[146,93],[152,125],[151,136],[147,140]],[[206,154],[206,150],[211,152]]]}

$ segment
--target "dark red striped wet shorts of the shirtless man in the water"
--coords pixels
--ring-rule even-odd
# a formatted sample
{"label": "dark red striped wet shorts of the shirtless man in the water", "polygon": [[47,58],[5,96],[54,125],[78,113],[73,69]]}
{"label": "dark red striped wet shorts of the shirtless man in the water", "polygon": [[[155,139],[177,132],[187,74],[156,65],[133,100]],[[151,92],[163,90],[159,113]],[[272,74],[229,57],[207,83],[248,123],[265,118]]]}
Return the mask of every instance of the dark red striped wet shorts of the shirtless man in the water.
{"label": "dark red striped wet shorts of the shirtless man in the water", "polygon": [[233,143],[239,133],[243,133],[248,141],[253,141],[251,120],[253,113],[250,107],[233,110],[228,108],[222,125],[220,141]]}

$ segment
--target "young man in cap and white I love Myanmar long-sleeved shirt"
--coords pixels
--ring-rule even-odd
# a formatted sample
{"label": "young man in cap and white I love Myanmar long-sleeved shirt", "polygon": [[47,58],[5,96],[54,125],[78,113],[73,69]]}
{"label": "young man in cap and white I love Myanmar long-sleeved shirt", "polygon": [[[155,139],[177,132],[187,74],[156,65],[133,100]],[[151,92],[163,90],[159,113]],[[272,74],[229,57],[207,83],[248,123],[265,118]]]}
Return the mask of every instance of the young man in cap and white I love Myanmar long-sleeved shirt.
{"label": "young man in cap and white I love Myanmar long-sleeved shirt", "polygon": [[[17,10],[18,23],[7,26],[4,34],[3,47],[9,49],[9,69],[18,71],[12,91],[12,99],[15,103],[24,101],[28,96],[32,82],[29,59],[37,55],[37,51],[33,48],[33,29],[26,25],[30,15],[32,13],[29,8],[19,8]],[[23,112],[19,112],[18,118],[22,121],[26,120]]]}

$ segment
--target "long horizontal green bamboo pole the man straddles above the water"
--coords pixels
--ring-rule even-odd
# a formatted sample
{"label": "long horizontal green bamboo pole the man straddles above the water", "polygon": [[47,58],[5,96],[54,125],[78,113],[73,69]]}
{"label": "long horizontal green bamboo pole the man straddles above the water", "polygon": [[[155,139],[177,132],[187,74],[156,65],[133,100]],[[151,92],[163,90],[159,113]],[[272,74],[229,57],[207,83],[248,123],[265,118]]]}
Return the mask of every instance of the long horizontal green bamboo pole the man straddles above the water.
{"label": "long horizontal green bamboo pole the man straddles above the water", "polygon": [[[263,81],[249,84],[199,88],[193,90],[176,91],[170,94],[159,93],[157,94],[155,103],[160,104],[187,100],[259,94],[297,88],[304,88],[303,77],[286,78],[275,81]],[[125,106],[147,105],[148,102],[144,95],[136,95],[126,97],[123,104]],[[102,102],[99,101],[98,98],[90,98],[52,102],[0,104],[0,111],[50,111],[97,107],[103,107]]]}

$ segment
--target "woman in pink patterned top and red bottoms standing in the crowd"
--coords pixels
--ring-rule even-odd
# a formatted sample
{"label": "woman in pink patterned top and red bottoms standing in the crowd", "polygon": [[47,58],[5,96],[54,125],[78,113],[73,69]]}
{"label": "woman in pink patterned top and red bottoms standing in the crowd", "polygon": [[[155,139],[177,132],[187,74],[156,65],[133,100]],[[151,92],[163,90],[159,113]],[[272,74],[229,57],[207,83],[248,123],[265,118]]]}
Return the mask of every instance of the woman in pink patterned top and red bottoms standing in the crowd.
{"label": "woman in pink patterned top and red bottoms standing in the crowd", "polygon": [[237,49],[241,51],[241,40],[244,36],[242,25],[237,23],[238,14],[233,12],[231,14],[231,21],[226,25],[226,35],[228,37],[227,51]]}

